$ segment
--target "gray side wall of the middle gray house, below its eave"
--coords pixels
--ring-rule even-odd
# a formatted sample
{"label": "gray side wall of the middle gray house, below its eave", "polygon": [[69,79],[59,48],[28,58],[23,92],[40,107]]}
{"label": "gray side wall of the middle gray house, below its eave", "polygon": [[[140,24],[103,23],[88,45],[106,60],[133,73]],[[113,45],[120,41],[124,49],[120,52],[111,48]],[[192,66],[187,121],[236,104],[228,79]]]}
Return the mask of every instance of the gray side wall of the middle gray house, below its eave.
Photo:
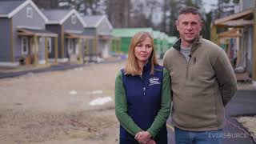
{"label": "gray side wall of the middle gray house, below its eave", "polygon": [[[46,25],[46,30],[49,30],[55,34],[58,34],[58,58],[61,58],[62,52],[62,26],[60,25]],[[54,51],[54,38],[51,41],[52,52],[49,54],[49,58],[55,58]]]}

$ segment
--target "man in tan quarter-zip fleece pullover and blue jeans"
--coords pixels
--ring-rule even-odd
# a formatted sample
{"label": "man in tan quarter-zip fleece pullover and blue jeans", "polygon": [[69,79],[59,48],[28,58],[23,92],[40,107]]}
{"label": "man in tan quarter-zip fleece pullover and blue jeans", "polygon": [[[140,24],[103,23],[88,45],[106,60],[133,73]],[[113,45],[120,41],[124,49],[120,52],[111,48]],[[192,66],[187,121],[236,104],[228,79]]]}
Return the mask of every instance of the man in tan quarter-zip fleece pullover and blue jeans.
{"label": "man in tan quarter-zip fleece pullover and blue jeans", "polygon": [[180,38],[163,58],[171,78],[178,144],[221,143],[224,106],[237,90],[229,58],[222,48],[199,37],[202,26],[197,9],[180,10],[176,21]]}

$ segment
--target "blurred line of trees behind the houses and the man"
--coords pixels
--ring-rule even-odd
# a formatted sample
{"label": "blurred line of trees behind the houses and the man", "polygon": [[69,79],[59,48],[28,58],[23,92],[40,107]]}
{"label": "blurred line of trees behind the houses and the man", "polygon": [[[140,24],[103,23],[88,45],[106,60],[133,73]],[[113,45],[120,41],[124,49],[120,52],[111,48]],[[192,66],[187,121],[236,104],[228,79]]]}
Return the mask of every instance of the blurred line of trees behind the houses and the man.
{"label": "blurred line of trees behind the houses and the man", "polygon": [[[153,27],[178,36],[175,20],[178,10],[194,6],[205,23],[202,35],[210,38],[210,23],[225,14],[234,13],[239,0],[216,0],[213,10],[205,10],[202,0],[33,0],[43,9],[76,9],[84,15],[106,14],[115,28]],[[157,22],[158,21],[158,22]]]}

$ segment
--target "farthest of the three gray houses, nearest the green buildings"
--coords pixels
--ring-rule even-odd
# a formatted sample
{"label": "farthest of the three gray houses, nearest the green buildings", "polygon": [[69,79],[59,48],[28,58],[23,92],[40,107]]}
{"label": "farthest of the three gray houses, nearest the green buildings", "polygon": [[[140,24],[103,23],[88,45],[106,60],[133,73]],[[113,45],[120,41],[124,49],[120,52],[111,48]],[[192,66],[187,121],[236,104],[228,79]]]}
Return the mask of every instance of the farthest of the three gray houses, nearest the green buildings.
{"label": "farthest of the three gray houses, nearest the green buildings", "polygon": [[110,21],[106,15],[84,16],[83,19],[87,24],[84,34],[94,37],[94,45],[89,46],[88,54],[97,58],[108,58],[113,30]]}

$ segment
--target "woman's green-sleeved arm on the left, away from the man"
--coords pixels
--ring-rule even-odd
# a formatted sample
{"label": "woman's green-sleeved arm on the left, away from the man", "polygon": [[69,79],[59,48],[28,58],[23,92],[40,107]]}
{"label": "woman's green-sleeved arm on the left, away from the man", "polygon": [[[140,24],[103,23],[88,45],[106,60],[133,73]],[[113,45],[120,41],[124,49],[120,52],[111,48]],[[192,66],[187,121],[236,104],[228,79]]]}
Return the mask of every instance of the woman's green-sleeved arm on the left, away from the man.
{"label": "woman's green-sleeved arm on the left, away from the man", "polygon": [[126,92],[122,83],[122,72],[119,71],[117,78],[115,79],[115,114],[120,122],[121,126],[128,131],[130,134],[137,134],[139,131],[142,131],[139,128],[130,115],[127,114],[127,101],[126,101]]}

